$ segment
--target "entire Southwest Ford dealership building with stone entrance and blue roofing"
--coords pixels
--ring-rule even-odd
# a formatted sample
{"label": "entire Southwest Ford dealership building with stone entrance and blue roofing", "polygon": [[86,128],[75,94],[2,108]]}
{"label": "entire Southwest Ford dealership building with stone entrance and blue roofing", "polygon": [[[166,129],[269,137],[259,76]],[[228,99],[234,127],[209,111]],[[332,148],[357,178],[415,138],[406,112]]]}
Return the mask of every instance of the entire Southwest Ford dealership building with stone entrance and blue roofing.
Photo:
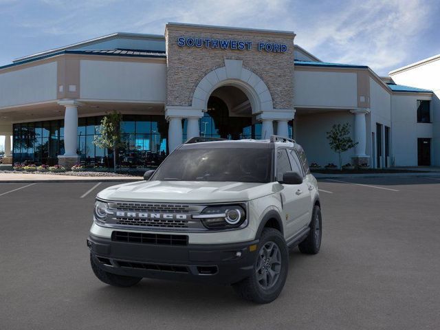
{"label": "entire Southwest Ford dealership building with stone entrance and blue roofing", "polygon": [[115,33],[17,58],[0,67],[3,164],[104,164],[109,151],[94,137],[115,110],[119,157],[137,166],[190,137],[272,134],[293,137],[309,162],[338,164],[326,136],[344,123],[358,144],[343,164],[440,166],[440,56],[380,77],[320,61],[294,38],[168,23],[164,35]]}

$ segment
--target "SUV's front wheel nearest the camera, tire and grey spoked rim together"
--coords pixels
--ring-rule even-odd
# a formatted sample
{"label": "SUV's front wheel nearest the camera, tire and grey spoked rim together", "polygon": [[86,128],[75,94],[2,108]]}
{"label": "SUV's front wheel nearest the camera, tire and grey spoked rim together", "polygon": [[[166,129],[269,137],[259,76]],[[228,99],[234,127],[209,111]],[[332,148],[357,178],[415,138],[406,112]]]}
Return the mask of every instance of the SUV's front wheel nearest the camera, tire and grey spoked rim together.
{"label": "SUV's front wheel nearest the camera, tire and grey spoked rim together", "polygon": [[281,232],[265,228],[261,234],[252,276],[232,285],[246,300],[267,304],[275,300],[287,278],[289,250]]}

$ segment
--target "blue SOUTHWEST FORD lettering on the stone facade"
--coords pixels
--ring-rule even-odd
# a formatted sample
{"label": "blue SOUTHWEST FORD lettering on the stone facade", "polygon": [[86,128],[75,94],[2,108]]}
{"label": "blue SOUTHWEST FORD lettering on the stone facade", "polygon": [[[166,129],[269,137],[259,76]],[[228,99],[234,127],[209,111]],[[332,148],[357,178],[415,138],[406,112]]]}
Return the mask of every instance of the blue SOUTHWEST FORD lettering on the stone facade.
{"label": "blue SOUTHWEST FORD lettering on the stone facade", "polygon": [[265,51],[270,53],[287,52],[287,45],[283,43],[256,43],[252,41],[238,41],[230,39],[208,39],[208,38],[186,38],[180,36],[177,38],[177,45],[180,47],[197,47],[197,48],[213,48],[220,50],[252,50],[256,47],[259,52]]}

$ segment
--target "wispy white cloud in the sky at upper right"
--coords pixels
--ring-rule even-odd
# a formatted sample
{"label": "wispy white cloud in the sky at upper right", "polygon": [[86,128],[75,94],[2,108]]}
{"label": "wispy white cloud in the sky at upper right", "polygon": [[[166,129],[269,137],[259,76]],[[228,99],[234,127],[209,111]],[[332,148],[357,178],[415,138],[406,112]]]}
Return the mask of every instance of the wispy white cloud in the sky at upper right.
{"label": "wispy white cloud in the sky at upper right", "polygon": [[386,74],[413,61],[410,43],[430,28],[431,16],[432,6],[421,0],[351,2],[341,12],[318,14],[318,25],[298,42],[325,61],[369,65]]}

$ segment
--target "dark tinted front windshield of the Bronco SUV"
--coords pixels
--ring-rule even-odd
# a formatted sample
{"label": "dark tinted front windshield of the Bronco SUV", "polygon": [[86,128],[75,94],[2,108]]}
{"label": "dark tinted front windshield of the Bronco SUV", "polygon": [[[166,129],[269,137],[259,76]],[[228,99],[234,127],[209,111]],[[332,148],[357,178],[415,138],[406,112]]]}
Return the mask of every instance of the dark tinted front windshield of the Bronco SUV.
{"label": "dark tinted front windshield of the Bronco SUV", "polygon": [[151,180],[160,181],[271,181],[272,149],[182,148],[174,151]]}

